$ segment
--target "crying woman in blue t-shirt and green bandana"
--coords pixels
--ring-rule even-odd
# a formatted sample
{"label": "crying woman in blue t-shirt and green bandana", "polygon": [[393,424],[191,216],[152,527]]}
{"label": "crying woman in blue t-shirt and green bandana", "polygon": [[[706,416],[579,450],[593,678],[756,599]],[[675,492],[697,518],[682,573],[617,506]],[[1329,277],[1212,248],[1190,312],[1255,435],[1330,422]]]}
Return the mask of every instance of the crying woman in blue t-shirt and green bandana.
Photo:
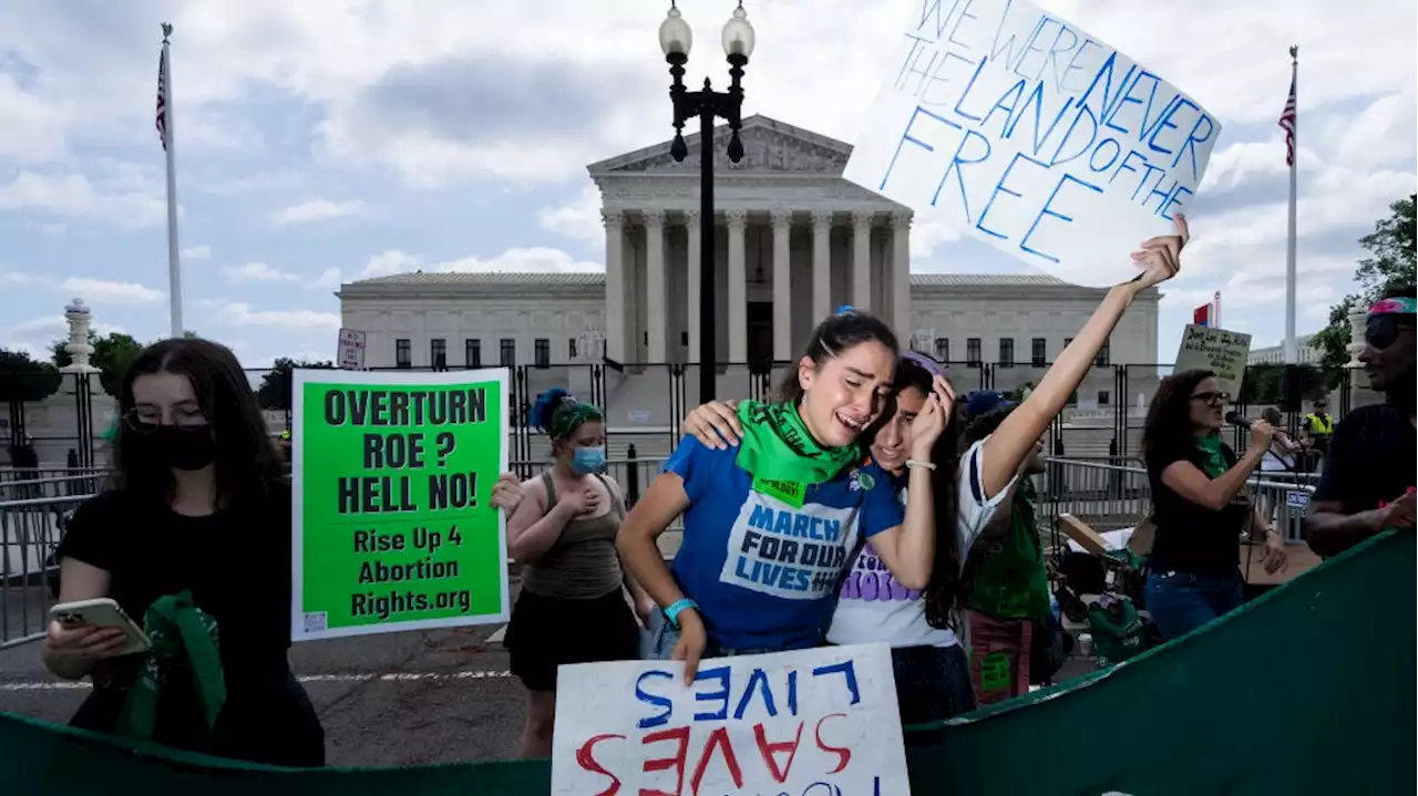
{"label": "crying woman in blue t-shirt and green bandana", "polygon": [[[910,513],[885,470],[862,463],[858,439],[891,399],[896,336],[844,312],[824,320],[771,404],[737,408],[742,442],[685,439],[621,525],[625,565],[662,610],[651,616],[651,657],[699,659],[820,646],[842,574],[869,538],[906,588],[925,588],[934,559],[933,503]],[[934,384],[913,422],[930,445],[951,397]],[[930,472],[912,472],[912,489]],[[683,514],[674,571],[655,544]]]}

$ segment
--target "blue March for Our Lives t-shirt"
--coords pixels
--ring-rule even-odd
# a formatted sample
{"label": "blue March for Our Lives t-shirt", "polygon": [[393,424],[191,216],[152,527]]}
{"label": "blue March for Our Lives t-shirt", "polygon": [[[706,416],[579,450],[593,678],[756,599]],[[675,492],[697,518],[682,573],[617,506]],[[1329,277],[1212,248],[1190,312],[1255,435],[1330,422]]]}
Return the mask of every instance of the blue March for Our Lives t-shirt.
{"label": "blue March for Our Lives t-shirt", "polygon": [[876,465],[808,486],[795,508],[754,491],[736,455],[688,438],[665,462],[664,472],[683,479],[689,497],[675,579],[699,603],[715,646],[817,646],[858,537],[900,525],[905,510]]}

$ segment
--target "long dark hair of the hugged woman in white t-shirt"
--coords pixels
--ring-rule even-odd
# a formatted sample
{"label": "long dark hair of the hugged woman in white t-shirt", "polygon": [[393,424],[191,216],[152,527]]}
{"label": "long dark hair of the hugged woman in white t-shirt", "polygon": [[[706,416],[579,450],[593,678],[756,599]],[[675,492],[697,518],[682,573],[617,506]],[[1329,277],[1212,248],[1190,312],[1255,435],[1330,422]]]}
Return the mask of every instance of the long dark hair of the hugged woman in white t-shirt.
{"label": "long dark hair of the hugged woman in white t-shirt", "polygon": [[[934,374],[926,370],[920,361],[903,357],[896,364],[896,381],[892,388],[900,394],[902,390],[915,387],[929,401],[934,392],[933,380]],[[889,421],[895,412],[893,401],[889,411],[883,412],[885,419]],[[885,421],[873,425],[879,428],[881,422]],[[936,438],[936,445],[930,449],[930,462],[936,466],[934,472],[930,473],[930,493],[936,503],[936,559],[930,571],[930,582],[926,585],[926,622],[932,627],[940,629],[950,627],[950,608],[956,602],[960,581],[957,551],[960,545],[956,542],[960,537],[957,527],[960,517],[957,517],[956,508],[960,501],[960,496],[956,494],[960,469],[960,448],[956,440],[960,439],[960,412],[950,412],[950,422],[946,423],[940,436]]]}

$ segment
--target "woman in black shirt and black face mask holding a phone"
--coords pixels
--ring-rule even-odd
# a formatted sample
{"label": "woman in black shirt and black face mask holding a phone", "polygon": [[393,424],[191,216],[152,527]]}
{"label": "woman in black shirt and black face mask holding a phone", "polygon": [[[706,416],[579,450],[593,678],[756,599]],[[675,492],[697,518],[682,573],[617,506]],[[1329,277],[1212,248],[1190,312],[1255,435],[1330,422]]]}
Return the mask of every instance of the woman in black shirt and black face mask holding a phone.
{"label": "woman in black shirt and black face mask holding a phone", "polygon": [[[251,762],[323,765],[323,729],[286,660],[291,487],[241,365],[207,340],[156,343],[129,368],[119,411],[118,486],[69,521],[60,601],[111,598],[142,623],[156,601],[190,592],[216,620],[225,700],[208,728],[191,673],[166,671],[152,739]],[[119,731],[147,657],[118,657],[122,644],[118,630],[50,625],[45,666],[94,681],[72,725]]]}

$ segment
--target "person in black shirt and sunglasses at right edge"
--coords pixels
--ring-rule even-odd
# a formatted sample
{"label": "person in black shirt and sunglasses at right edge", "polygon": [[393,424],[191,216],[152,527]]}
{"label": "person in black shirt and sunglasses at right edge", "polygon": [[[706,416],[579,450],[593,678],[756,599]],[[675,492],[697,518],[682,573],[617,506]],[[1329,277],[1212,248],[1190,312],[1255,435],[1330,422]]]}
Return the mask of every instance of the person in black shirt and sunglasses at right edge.
{"label": "person in black shirt and sunglasses at right edge", "polygon": [[1418,290],[1392,290],[1370,307],[1358,361],[1387,401],[1334,428],[1305,518],[1306,541],[1323,557],[1418,525]]}

